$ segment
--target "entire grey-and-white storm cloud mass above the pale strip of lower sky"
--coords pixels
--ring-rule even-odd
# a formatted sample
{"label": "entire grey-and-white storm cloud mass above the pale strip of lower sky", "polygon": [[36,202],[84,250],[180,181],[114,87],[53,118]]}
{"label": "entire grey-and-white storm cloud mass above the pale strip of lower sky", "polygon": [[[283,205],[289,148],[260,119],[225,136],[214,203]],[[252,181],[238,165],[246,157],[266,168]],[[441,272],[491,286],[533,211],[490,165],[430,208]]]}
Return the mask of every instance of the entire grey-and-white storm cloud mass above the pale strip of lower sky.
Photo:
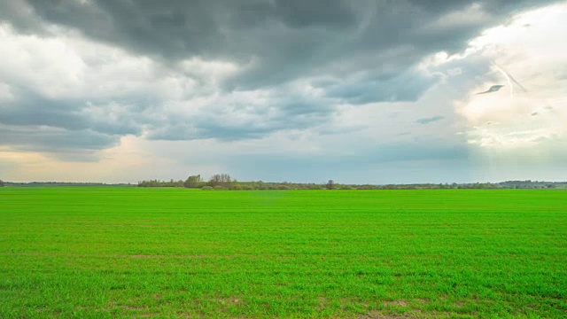
{"label": "entire grey-and-white storm cloud mass above the pale strip of lower sky", "polygon": [[409,143],[396,138],[453,121],[454,105],[407,105],[452,77],[452,100],[495,81],[480,54],[467,53],[481,61],[468,65],[449,57],[490,27],[553,3],[560,1],[0,0],[0,146],[74,160],[125,136],[332,136],[371,128],[372,119],[348,115],[371,105],[384,110],[376,125],[388,124],[386,113],[412,113],[400,115],[400,132],[411,134],[392,131],[380,147],[419,160],[394,152]]}

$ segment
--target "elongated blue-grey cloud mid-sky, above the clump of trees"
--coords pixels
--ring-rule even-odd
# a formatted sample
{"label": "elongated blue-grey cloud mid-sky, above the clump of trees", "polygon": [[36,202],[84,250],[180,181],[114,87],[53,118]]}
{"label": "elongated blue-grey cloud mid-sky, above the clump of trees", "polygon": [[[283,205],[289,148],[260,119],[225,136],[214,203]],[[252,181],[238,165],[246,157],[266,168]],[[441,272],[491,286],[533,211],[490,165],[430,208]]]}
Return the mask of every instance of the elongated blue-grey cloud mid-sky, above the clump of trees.
{"label": "elongated blue-grey cloud mid-sky, above the clump of trees", "polygon": [[217,138],[224,141],[255,139],[285,129],[304,129],[330,120],[329,100],[277,92],[268,105],[256,102],[221,101],[221,107],[206,105],[189,117],[171,116],[151,127],[151,140],[194,140]]}

